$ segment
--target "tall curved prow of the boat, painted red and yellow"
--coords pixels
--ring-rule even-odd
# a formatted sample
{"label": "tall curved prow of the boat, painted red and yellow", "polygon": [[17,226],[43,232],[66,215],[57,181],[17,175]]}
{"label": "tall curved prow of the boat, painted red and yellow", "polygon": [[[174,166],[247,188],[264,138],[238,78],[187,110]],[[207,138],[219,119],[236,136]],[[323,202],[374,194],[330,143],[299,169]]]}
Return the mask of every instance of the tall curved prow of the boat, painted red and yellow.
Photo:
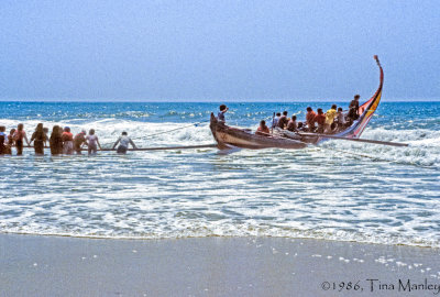
{"label": "tall curved prow of the boat, painted red and yellow", "polygon": [[384,85],[384,70],[382,69],[381,62],[378,61],[378,57],[376,55],[374,56],[374,59],[376,61],[377,66],[381,70],[381,81],[373,97],[359,107],[359,113],[361,114],[361,117],[359,118],[359,123],[356,124],[356,128],[352,131],[352,133],[350,133],[350,135],[346,135],[349,138],[359,139],[361,136],[366,124],[370,122],[370,119],[373,117],[373,113],[376,111],[378,102],[381,101],[382,87]]}

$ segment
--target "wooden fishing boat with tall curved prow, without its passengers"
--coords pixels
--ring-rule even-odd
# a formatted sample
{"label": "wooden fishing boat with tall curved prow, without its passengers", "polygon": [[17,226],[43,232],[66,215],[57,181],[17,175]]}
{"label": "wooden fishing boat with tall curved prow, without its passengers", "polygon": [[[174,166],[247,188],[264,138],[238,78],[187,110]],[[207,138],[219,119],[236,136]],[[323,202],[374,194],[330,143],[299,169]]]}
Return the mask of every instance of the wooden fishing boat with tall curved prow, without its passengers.
{"label": "wooden fishing boat with tall curved prow, without its passengers", "polygon": [[380,86],[376,92],[370,100],[359,107],[358,120],[353,121],[352,125],[345,130],[340,131],[336,134],[331,134],[328,138],[323,134],[312,133],[297,133],[289,134],[283,133],[282,135],[257,135],[250,130],[232,128],[227,125],[224,122],[218,121],[213,113],[211,113],[210,129],[212,135],[220,150],[231,147],[243,147],[243,148],[267,148],[267,147],[279,147],[279,148],[304,148],[307,144],[318,144],[332,136],[340,139],[359,139],[364,131],[366,124],[370,122],[373,113],[376,111],[377,106],[382,97],[382,87],[384,84],[384,72],[377,56],[374,56],[377,66],[380,67],[381,78]]}

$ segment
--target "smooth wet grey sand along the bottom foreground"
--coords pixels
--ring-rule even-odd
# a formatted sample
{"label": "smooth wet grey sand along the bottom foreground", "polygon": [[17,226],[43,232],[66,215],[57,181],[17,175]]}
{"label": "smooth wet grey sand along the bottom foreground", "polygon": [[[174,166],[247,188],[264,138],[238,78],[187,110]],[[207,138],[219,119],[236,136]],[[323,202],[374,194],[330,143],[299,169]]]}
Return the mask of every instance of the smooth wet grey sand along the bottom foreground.
{"label": "smooth wet grey sand along the bottom foreground", "polygon": [[0,234],[0,296],[440,296],[439,292],[437,249],[285,238]]}

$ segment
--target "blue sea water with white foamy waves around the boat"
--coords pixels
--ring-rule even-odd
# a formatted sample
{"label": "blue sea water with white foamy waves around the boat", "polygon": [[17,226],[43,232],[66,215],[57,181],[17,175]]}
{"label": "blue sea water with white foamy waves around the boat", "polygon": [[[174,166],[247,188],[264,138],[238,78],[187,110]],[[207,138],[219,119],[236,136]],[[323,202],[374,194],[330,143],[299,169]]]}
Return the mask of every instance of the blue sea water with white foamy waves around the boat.
{"label": "blue sea water with white foamy waves around the boat", "polygon": [[[348,102],[340,102],[346,107]],[[231,125],[326,102],[228,103]],[[95,129],[110,147],[211,144],[219,103],[0,102],[0,125]],[[162,239],[287,237],[440,248],[440,102],[382,102],[363,139],[304,150],[0,157],[0,232]],[[170,131],[170,132],[169,132]],[[15,152],[14,152],[15,153]]]}

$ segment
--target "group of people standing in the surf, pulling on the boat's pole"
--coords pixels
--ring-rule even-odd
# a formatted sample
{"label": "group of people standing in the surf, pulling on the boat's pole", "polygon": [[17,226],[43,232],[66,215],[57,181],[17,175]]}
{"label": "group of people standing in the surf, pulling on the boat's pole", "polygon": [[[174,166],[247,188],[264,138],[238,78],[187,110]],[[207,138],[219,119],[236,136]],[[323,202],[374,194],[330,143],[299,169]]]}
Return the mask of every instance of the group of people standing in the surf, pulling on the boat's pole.
{"label": "group of people standing in the surf, pulling on the boat's pole", "polygon": [[[74,153],[80,155],[84,146],[87,146],[89,155],[97,154],[98,147],[102,150],[99,139],[95,134],[95,129],[90,129],[88,134],[82,129],[74,136],[69,127],[54,125],[51,135],[48,135],[48,129],[44,128],[43,123],[38,123],[31,140],[29,140],[22,123],[16,129],[11,129],[9,134],[6,133],[6,127],[0,125],[0,155],[12,155],[13,146],[16,150],[16,155],[22,155],[24,142],[28,146],[33,144],[35,155],[44,155],[44,147],[47,147],[47,143],[52,155],[73,155]],[[119,154],[125,154],[129,144],[136,148],[127,132],[122,132],[122,135],[114,142],[112,150],[118,144],[117,153]]]}

